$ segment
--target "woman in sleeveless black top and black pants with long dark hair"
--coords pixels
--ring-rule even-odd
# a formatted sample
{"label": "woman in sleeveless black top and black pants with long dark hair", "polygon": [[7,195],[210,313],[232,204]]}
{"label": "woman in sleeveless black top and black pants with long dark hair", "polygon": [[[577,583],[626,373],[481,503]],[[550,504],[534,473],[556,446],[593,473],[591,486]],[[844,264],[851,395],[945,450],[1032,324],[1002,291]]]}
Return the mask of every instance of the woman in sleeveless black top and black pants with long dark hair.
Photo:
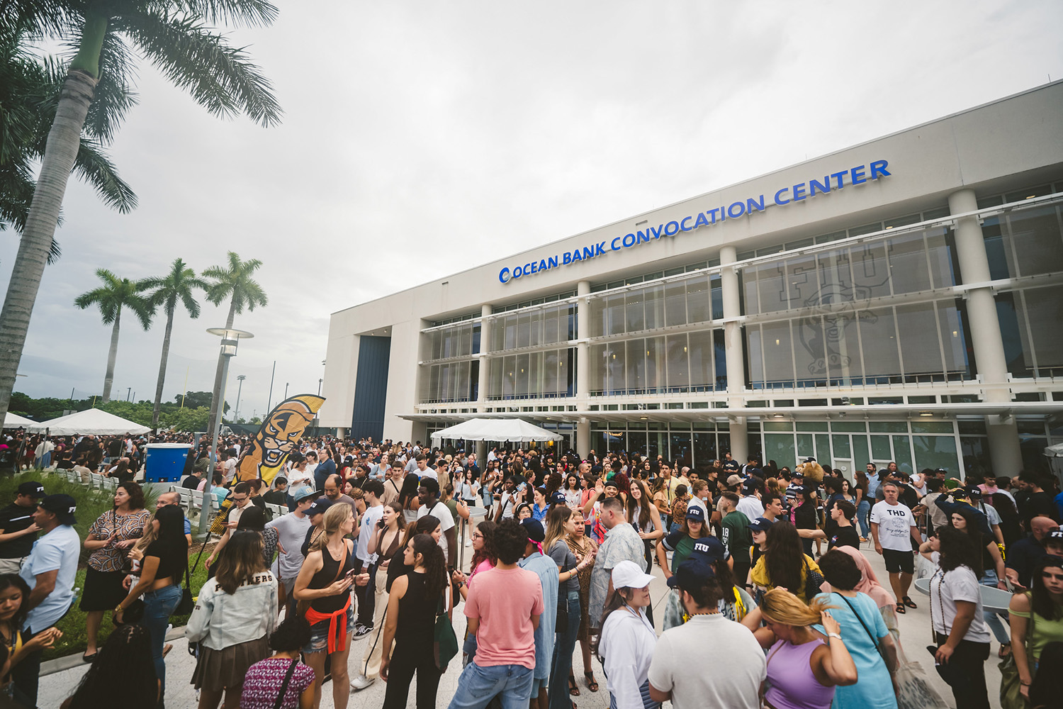
{"label": "woman in sleeveless black top and black pants with long dark hair", "polygon": [[381,659],[381,677],[388,682],[384,709],[403,709],[417,674],[417,709],[434,709],[440,671],[434,652],[436,612],[445,610],[446,561],[429,535],[416,535],[406,544],[404,561],[414,570],[391,586],[384,647],[395,647]]}

